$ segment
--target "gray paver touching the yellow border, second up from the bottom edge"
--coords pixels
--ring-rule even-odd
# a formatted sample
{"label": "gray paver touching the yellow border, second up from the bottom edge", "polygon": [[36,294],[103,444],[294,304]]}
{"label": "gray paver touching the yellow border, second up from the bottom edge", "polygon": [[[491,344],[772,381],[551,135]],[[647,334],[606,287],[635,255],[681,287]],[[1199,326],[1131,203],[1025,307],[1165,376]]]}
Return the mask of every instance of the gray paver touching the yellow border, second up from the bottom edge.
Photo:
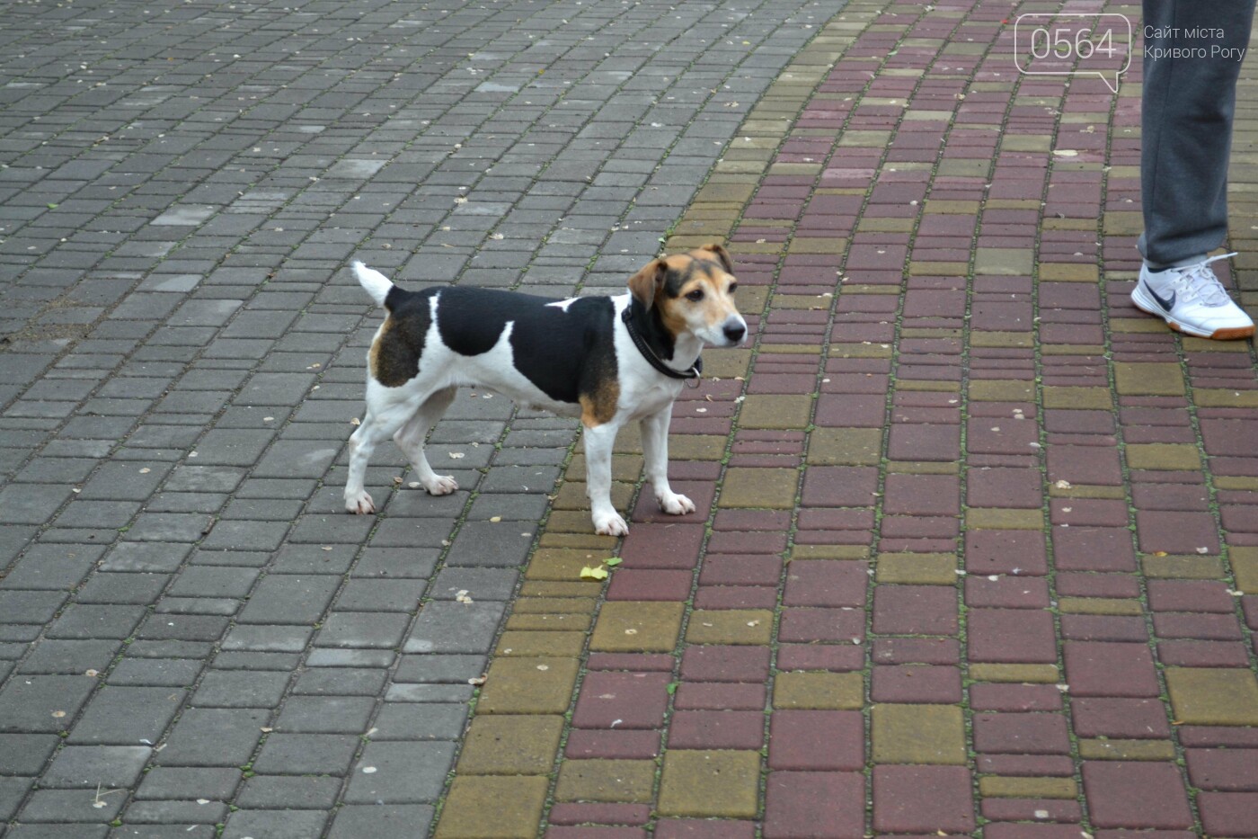
{"label": "gray paver touching the yellow border, second up from the bottom edge", "polygon": [[[353,766],[347,804],[424,804],[437,800],[454,762],[448,742],[367,743]],[[374,772],[364,772],[374,768]]]}

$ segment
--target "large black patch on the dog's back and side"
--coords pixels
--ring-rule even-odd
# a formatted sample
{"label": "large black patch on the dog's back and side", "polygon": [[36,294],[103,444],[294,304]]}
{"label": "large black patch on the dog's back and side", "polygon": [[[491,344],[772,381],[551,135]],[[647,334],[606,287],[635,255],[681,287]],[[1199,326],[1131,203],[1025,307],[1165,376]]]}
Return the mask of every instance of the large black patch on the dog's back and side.
{"label": "large black patch on the dog's back and side", "polygon": [[492,288],[443,288],[437,328],[460,355],[488,353],[508,322],[516,369],[556,402],[579,402],[616,375],[609,297],[580,297],[566,311],[548,297]]}

